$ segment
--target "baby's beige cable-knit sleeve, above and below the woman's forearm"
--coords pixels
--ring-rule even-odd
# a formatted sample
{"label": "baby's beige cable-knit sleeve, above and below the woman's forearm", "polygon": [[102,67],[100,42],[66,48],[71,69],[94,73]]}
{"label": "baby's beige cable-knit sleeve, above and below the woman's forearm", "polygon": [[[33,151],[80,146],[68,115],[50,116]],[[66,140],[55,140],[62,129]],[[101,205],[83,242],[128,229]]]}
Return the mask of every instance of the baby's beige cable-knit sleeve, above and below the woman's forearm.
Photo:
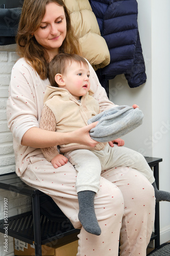
{"label": "baby's beige cable-knit sleeve, above and below the woman's forearm", "polygon": [[[40,120],[40,128],[47,131],[56,131],[56,118],[47,106],[44,106],[42,113],[41,113],[41,120]],[[45,147],[41,148],[41,151],[46,158],[47,161],[51,162],[51,160],[56,156],[59,155],[57,150],[57,146]]]}

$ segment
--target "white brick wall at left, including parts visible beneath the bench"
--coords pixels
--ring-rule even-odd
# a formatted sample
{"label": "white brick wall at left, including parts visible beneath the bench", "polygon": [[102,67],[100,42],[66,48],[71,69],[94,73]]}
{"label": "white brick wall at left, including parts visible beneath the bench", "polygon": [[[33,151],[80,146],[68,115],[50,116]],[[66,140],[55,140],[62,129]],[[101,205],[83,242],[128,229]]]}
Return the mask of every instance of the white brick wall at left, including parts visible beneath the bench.
{"label": "white brick wall at left, including parts visible beneath the bench", "polygon": [[[12,67],[18,56],[16,45],[0,46],[0,175],[15,172],[12,134],[7,127],[6,103]],[[31,198],[0,189],[0,220],[4,219],[4,198],[8,199],[8,217],[31,210]],[[4,234],[0,233],[0,255],[13,256],[13,238],[8,236],[4,251]]]}

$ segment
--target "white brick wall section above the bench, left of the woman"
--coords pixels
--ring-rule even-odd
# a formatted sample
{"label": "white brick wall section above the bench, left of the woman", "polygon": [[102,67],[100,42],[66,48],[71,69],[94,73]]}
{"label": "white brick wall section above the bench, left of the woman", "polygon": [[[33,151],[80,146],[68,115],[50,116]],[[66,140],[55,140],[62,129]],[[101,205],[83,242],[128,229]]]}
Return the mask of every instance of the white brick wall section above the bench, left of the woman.
{"label": "white brick wall section above the bench, left of the woman", "polygon": [[15,171],[12,134],[6,120],[10,73],[18,58],[15,48],[16,45],[0,47],[0,174]]}

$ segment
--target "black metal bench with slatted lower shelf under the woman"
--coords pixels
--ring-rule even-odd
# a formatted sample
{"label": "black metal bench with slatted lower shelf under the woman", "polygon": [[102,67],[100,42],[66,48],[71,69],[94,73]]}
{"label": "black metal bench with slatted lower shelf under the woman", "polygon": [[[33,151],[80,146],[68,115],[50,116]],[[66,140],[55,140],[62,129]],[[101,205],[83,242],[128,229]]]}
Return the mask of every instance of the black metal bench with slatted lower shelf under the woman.
{"label": "black metal bench with slatted lower shelf under the woman", "polygon": [[[145,157],[153,167],[154,177],[159,189],[159,162],[161,158]],[[41,245],[56,244],[61,246],[77,240],[79,229],[75,229],[70,221],[58,219],[51,221],[40,214],[39,197],[44,195],[38,189],[23,183],[15,173],[0,175],[0,188],[32,197],[32,211],[8,218],[8,236],[29,244],[35,244],[35,256],[41,256]],[[0,220],[0,232],[5,233],[5,219]],[[155,248],[160,245],[159,203],[156,203],[155,230],[151,241],[155,240]]]}

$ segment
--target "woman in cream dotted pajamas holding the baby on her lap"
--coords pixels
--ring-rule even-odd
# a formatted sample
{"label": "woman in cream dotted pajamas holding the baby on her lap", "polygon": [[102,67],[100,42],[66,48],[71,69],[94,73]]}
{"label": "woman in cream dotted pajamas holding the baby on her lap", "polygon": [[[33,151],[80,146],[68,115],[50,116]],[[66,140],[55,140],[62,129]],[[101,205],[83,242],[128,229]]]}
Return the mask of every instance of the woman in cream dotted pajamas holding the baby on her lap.
{"label": "woman in cream dotted pajamas holding the baby on her lap", "polygon": [[[14,137],[16,173],[30,186],[50,195],[79,234],[78,256],[146,254],[154,225],[155,197],[150,182],[135,169],[119,167],[102,172],[94,199],[102,233],[87,233],[78,219],[76,170],[67,162],[55,169],[40,147],[65,143],[94,146],[89,136],[92,123],[71,133],[39,129],[43,95],[49,81],[47,63],[59,52],[80,54],[72,33],[68,11],[61,0],[25,0],[17,35],[18,54],[11,73],[8,125]],[[91,89],[102,110],[114,104],[106,96],[92,67]],[[112,145],[113,146],[113,145]],[[134,193],[135,191],[135,193]]]}

